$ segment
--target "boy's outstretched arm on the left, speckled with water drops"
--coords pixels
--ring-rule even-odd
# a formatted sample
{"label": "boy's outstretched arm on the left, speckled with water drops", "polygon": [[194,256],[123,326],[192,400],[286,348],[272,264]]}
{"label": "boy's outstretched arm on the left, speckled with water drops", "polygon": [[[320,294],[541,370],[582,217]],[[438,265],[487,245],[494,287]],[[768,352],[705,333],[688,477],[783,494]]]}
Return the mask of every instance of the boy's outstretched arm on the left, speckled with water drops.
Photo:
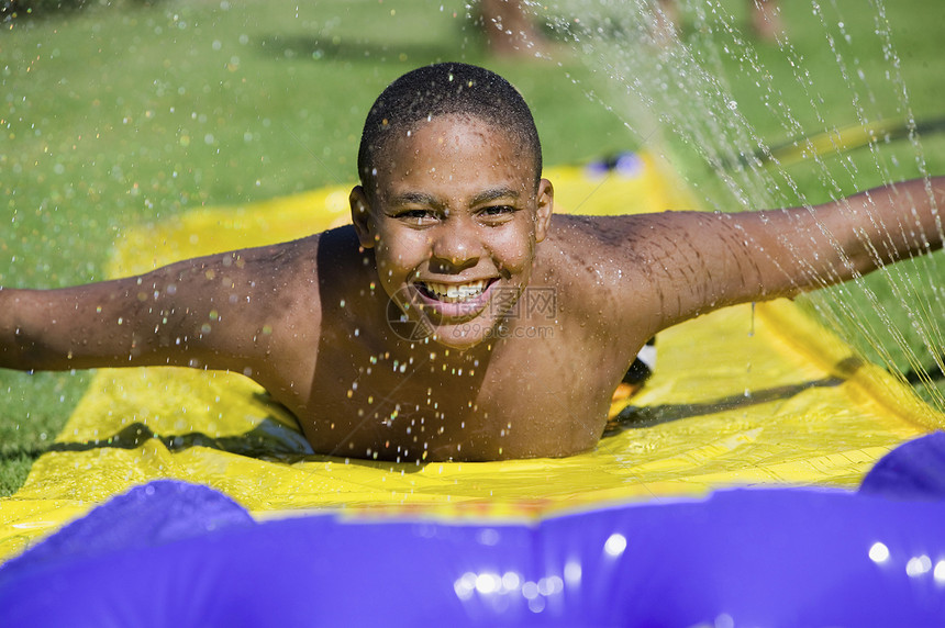
{"label": "boy's outstretched arm on the left, speckled with water drops", "polygon": [[0,368],[259,368],[292,313],[297,243],[56,290],[0,290]]}

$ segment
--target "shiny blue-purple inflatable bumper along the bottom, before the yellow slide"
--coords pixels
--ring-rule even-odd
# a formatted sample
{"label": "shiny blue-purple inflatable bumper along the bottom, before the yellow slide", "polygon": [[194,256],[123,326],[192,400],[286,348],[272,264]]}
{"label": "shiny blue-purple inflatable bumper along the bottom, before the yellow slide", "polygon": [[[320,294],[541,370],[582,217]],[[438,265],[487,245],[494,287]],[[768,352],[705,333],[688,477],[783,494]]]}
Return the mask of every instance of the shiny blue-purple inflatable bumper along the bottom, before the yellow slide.
{"label": "shiny blue-purple inflatable bumper along the bottom, before the yellow slide", "polygon": [[[945,624],[945,501],[765,489],[531,525],[251,524],[202,486],[131,495],[0,568],[0,626]],[[215,514],[180,506],[200,501]]]}

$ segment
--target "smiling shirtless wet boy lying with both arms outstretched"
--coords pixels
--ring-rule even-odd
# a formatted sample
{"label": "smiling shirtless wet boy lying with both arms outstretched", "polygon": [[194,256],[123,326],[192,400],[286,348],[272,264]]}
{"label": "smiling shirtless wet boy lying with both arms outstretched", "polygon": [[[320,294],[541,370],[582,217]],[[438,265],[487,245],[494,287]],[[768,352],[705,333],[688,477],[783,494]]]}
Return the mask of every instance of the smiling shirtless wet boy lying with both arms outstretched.
{"label": "smiling shirtless wet boy lying with both arms outstretched", "polygon": [[321,453],[567,456],[597,444],[614,389],[660,329],[942,244],[941,178],[813,211],[553,215],[527,105],[463,64],[385,90],[358,168],[352,226],[141,277],[0,291],[0,367],[241,372]]}

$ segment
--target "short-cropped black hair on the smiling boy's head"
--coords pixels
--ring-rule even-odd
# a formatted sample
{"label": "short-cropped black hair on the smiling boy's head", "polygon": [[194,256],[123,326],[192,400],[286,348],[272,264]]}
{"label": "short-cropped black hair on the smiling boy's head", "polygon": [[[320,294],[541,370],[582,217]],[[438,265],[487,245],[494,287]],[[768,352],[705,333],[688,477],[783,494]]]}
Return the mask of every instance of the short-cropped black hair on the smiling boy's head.
{"label": "short-cropped black hair on the smiling boy's head", "polygon": [[542,176],[542,145],[532,111],[512,85],[490,70],[459,63],[418,68],[390,83],[377,98],[360,137],[358,175],[374,194],[375,164],[389,139],[422,120],[474,115],[508,131],[534,159],[535,184]]}

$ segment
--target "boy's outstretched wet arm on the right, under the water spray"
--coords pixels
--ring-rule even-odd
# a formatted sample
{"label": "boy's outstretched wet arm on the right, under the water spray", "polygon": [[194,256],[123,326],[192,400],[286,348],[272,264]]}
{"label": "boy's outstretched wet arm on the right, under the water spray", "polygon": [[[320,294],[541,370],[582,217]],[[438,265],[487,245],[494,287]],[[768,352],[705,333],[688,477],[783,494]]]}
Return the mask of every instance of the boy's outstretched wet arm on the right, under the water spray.
{"label": "boy's outstretched wet arm on the right, under the water spray", "polygon": [[841,283],[942,248],[942,213],[945,177],[935,177],[814,208],[651,214],[634,232],[652,237],[634,248],[659,295],[656,326],[663,328],[725,305]]}

